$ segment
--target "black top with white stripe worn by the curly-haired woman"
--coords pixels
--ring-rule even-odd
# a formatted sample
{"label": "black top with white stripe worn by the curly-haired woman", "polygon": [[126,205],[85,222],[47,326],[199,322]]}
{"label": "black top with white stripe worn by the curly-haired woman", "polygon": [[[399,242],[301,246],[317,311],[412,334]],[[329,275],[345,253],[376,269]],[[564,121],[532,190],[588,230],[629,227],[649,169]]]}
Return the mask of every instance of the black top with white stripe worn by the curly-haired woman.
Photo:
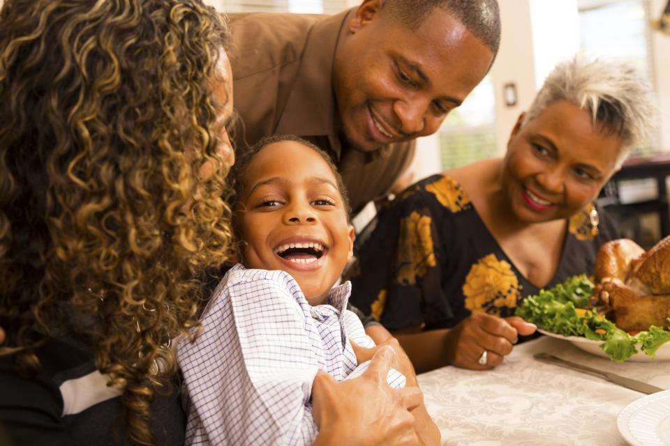
{"label": "black top with white stripe worn by the curly-haired woman", "polygon": [[[38,348],[40,369],[24,376],[13,355],[0,357],[0,420],[15,444],[123,444],[121,390],[96,369],[90,348],[71,337]],[[179,388],[156,395],[151,429],[160,445],[184,444],[184,412]],[[21,410],[17,410],[20,407]]]}

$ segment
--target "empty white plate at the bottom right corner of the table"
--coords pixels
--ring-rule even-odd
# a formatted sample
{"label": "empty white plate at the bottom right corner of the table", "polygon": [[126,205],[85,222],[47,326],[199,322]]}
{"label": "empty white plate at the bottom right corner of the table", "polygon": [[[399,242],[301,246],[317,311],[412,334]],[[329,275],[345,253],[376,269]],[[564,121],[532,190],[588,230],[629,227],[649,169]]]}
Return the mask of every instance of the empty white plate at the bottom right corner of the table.
{"label": "empty white plate at the bottom right corner of the table", "polygon": [[670,390],[636,399],[621,410],[616,426],[632,446],[670,446]]}

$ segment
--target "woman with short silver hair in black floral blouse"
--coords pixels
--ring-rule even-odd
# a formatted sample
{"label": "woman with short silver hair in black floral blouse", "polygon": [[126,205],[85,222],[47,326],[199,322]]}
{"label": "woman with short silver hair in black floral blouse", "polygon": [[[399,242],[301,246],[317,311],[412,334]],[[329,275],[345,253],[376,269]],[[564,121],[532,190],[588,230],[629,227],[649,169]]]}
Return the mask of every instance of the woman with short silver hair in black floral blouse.
{"label": "woman with short silver hair in black floral blouse", "polygon": [[381,210],[358,249],[352,302],[396,334],[417,371],[500,364],[535,330],[512,316],[516,305],[592,273],[597,248],[616,237],[594,200],[654,111],[632,68],[561,63],[504,158],[426,178]]}

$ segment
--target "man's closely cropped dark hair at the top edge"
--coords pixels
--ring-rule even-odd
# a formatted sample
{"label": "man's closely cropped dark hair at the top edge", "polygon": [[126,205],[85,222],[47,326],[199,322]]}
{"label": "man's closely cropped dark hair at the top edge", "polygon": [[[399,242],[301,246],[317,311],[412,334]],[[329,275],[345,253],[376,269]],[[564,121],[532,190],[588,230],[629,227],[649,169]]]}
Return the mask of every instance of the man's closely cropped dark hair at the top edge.
{"label": "man's closely cropped dark hair at the top edge", "polygon": [[493,56],[500,47],[498,0],[386,0],[387,11],[398,22],[417,29],[435,8],[442,8],[463,22]]}

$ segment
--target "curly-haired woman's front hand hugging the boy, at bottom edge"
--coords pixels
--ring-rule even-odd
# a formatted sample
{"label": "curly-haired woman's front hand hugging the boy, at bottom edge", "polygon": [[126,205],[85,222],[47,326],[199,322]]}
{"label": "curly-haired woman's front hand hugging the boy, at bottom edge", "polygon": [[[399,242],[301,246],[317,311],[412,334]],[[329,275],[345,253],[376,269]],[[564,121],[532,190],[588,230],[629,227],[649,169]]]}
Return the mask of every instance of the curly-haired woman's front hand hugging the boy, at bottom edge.
{"label": "curly-haired woman's front hand hugging the boy, at bottom edge", "polygon": [[391,347],[380,348],[358,378],[338,383],[319,372],[312,386],[312,408],[323,445],[416,445],[415,417],[422,404],[418,387],[393,389],[386,376],[394,360]]}

